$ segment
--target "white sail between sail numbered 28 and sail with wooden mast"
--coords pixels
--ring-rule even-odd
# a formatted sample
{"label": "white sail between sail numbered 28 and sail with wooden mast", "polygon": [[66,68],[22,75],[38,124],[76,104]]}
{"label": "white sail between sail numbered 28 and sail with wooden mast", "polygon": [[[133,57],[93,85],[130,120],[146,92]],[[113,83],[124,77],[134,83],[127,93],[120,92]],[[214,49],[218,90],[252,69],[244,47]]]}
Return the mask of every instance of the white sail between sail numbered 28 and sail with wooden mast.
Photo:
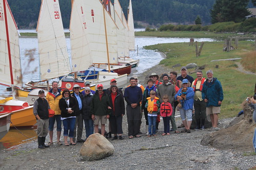
{"label": "white sail between sail numbered 28 and sail with wooden mast", "polygon": [[73,0],[70,17],[70,43],[72,71],[82,71],[92,65],[90,54],[85,4],[83,0]]}

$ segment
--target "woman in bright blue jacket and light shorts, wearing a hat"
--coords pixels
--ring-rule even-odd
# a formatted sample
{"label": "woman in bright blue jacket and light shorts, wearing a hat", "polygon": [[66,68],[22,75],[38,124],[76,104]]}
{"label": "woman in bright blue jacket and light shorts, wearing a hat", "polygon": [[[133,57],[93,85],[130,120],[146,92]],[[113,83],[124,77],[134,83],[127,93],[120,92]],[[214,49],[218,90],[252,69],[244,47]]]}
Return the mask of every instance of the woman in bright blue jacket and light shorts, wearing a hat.
{"label": "woman in bright blue jacket and light shorts, wearing a hat", "polygon": [[[187,88],[185,99],[183,99],[182,96],[180,95],[182,93],[183,88]],[[183,79],[182,88],[175,94],[175,100],[178,100],[178,102],[181,101],[182,103],[182,107],[180,108],[180,114],[181,114],[182,123],[185,126],[185,130],[183,130],[182,132],[191,133],[190,126],[192,124],[194,90],[192,87],[190,87],[190,83],[188,82],[188,79]],[[186,117],[187,117],[187,120],[186,120]]]}

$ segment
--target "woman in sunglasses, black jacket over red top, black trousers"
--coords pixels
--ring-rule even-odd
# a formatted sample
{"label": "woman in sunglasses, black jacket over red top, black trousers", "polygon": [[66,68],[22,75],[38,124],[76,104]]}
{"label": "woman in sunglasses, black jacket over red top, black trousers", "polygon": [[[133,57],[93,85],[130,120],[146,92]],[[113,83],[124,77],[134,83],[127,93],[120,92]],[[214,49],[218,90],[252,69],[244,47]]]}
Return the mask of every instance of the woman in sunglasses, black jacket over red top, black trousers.
{"label": "woman in sunglasses, black jacket over red top, black trousers", "polygon": [[109,94],[109,99],[111,103],[111,114],[109,117],[109,123],[111,127],[111,132],[114,134],[112,140],[117,139],[117,134],[119,134],[119,139],[123,140],[122,137],[123,129],[122,122],[123,116],[125,114],[125,102],[123,95],[120,92],[117,92],[117,86],[112,85],[110,87],[111,93]]}

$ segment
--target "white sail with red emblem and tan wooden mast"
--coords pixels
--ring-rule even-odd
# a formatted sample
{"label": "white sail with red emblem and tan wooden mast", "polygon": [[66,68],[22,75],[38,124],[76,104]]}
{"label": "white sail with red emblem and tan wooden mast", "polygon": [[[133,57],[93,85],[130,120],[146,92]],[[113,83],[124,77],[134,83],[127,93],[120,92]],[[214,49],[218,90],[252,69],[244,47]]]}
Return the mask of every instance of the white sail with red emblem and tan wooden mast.
{"label": "white sail with red emblem and tan wooden mast", "polygon": [[113,19],[99,0],[86,0],[85,8],[93,63],[117,63],[117,27]]}

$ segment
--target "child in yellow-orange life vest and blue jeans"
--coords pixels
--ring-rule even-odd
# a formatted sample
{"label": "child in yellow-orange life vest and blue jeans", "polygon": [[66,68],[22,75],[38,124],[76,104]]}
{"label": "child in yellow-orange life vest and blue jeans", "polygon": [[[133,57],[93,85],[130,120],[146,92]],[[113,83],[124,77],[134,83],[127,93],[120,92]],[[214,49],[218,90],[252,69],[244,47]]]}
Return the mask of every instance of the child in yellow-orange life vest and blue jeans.
{"label": "child in yellow-orange life vest and blue jeans", "polygon": [[158,101],[159,98],[155,96],[155,91],[151,90],[149,95],[150,97],[147,98],[148,101],[145,105],[145,108],[148,110],[148,137],[150,137],[152,134],[153,136],[156,136],[156,117],[160,106]]}

